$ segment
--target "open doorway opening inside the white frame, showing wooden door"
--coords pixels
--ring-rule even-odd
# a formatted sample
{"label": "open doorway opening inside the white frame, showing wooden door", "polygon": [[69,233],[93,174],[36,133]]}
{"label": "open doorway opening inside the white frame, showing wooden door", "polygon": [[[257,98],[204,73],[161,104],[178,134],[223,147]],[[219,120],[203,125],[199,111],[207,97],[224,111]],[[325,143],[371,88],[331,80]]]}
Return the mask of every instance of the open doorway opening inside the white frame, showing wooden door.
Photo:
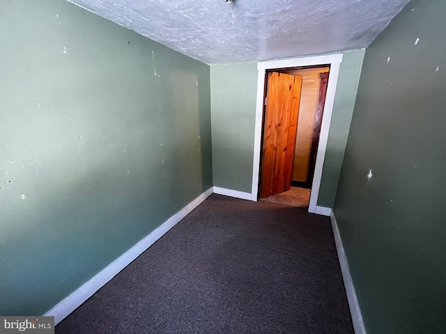
{"label": "open doorway opening inside the white frame, showing wooden door", "polygon": [[266,73],[260,198],[308,207],[330,65]]}

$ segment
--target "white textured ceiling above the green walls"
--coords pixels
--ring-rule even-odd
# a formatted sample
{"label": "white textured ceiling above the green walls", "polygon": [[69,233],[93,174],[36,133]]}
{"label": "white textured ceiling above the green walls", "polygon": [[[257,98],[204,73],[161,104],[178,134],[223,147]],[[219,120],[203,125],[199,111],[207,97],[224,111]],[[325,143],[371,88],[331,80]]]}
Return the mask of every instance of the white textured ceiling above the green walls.
{"label": "white textured ceiling above the green walls", "polygon": [[69,0],[203,63],[367,47],[408,0]]}

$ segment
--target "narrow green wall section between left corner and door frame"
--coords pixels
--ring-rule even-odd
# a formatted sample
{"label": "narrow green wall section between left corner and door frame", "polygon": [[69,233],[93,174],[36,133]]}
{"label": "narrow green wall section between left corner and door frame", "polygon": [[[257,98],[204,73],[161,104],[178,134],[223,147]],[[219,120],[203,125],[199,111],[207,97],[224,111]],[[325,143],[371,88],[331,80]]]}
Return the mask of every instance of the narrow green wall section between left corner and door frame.
{"label": "narrow green wall section between left corner and door frame", "polygon": [[251,193],[257,63],[210,66],[214,186]]}

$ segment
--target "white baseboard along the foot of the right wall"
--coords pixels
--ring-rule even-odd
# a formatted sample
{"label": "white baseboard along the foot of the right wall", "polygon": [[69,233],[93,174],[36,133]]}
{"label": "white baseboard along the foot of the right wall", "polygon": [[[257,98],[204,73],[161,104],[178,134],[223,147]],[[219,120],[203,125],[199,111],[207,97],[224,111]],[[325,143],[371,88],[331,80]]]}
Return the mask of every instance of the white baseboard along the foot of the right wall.
{"label": "white baseboard along the foot of the right wall", "polygon": [[344,286],[346,287],[348,306],[350,307],[351,319],[353,321],[353,328],[355,329],[355,334],[367,334],[364,327],[364,321],[362,320],[360,305],[359,303],[357,303],[355,287],[353,285],[353,280],[351,278],[350,269],[348,269],[348,261],[346,253],[344,251],[344,245],[342,244],[341,234],[339,234],[339,228],[337,226],[336,217],[334,217],[334,212],[332,212],[332,210],[330,211],[331,211],[330,220],[332,222],[334,242],[336,244],[339,264],[341,265],[342,278],[344,279]]}

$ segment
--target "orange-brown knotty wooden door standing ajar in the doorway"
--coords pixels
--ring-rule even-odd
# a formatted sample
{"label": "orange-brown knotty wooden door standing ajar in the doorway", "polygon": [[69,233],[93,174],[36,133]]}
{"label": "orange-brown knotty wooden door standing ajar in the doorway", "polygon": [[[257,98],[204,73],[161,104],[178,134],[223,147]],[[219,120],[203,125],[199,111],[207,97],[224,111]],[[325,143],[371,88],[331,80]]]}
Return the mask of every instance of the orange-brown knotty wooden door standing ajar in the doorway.
{"label": "orange-brown knotty wooden door standing ajar in the doorway", "polygon": [[301,87],[302,77],[268,73],[261,198],[290,189]]}

